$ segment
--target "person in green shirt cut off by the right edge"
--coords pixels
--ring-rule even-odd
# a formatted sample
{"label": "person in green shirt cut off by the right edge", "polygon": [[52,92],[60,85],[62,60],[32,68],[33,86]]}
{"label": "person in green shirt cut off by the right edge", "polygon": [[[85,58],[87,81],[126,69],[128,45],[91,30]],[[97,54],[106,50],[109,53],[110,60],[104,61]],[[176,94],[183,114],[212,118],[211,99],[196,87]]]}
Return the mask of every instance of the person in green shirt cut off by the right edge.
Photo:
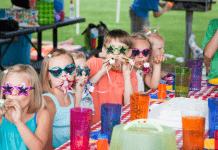
{"label": "person in green shirt cut off by the right edge", "polygon": [[207,79],[218,78],[218,19],[212,19],[202,42]]}

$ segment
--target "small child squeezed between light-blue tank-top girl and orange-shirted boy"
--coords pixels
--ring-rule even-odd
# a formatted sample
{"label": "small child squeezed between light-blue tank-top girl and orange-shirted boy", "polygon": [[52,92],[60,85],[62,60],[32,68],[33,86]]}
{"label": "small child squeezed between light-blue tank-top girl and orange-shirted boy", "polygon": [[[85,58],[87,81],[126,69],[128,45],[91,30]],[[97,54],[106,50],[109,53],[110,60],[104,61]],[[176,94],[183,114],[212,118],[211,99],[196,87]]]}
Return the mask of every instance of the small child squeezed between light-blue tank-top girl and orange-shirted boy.
{"label": "small child squeezed between light-blue tank-top girl and orange-shirted boy", "polygon": [[[90,94],[90,88],[88,85],[88,76],[90,75],[90,69],[89,67],[86,65],[86,57],[82,52],[78,52],[78,51],[72,51],[71,54],[73,55],[74,61],[75,61],[75,65],[76,65],[76,80],[80,81],[83,84],[81,84],[81,86],[84,86],[85,89],[82,93],[80,102],[78,102],[78,104],[81,108],[90,108],[92,109],[92,114],[95,114],[95,109],[94,109],[94,103],[93,103],[93,98]],[[76,91],[76,89],[75,89]],[[76,95],[76,97],[78,97]],[[80,103],[80,104],[79,104]]]}

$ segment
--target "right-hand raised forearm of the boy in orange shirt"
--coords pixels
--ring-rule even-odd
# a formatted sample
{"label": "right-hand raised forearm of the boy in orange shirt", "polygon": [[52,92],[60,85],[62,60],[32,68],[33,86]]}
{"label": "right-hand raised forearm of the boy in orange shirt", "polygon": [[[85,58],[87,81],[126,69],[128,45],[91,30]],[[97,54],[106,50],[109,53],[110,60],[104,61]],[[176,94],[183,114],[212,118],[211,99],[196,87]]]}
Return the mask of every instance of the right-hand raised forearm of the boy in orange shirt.
{"label": "right-hand raised forearm of the boy in orange shirt", "polygon": [[132,71],[132,66],[128,62],[123,63],[123,78],[124,78],[124,105],[130,103],[130,94],[133,93],[132,82],[130,78],[130,73]]}

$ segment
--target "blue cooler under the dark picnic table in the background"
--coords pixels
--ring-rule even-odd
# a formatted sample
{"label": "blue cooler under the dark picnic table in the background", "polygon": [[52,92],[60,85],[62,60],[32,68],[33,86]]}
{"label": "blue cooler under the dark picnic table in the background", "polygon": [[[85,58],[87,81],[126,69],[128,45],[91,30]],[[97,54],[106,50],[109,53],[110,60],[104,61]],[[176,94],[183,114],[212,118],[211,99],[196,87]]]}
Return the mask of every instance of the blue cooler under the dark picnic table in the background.
{"label": "blue cooler under the dark picnic table in the background", "polygon": [[[31,34],[27,35],[31,40]],[[30,64],[31,44],[24,35],[19,36],[18,42],[12,42],[2,58],[2,65]],[[4,52],[8,44],[1,46],[1,53]]]}

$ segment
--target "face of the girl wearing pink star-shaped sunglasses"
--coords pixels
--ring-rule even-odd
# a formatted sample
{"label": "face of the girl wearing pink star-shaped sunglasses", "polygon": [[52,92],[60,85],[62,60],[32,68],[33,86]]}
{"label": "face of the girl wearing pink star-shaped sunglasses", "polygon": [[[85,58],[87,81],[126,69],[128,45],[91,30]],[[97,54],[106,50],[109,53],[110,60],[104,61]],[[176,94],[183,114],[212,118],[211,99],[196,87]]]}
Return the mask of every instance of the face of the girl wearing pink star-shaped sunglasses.
{"label": "face of the girl wearing pink star-shaped sunglasses", "polygon": [[[11,100],[16,100],[20,103],[21,108],[28,108],[29,107],[29,103],[31,101],[31,94],[32,94],[32,90],[34,89],[30,89],[27,90],[27,88],[21,88],[20,86],[24,83],[25,87],[31,87],[31,82],[28,79],[27,75],[24,74],[23,72],[15,72],[15,73],[10,73],[7,75],[6,79],[5,79],[5,83],[8,82],[9,86],[17,86],[17,88],[13,88],[11,90],[11,95],[9,95],[8,93],[5,94],[6,99],[11,99]],[[21,90],[20,90],[21,89]],[[27,93],[27,96],[21,94],[22,92]],[[19,93],[21,95],[19,95]]]}

